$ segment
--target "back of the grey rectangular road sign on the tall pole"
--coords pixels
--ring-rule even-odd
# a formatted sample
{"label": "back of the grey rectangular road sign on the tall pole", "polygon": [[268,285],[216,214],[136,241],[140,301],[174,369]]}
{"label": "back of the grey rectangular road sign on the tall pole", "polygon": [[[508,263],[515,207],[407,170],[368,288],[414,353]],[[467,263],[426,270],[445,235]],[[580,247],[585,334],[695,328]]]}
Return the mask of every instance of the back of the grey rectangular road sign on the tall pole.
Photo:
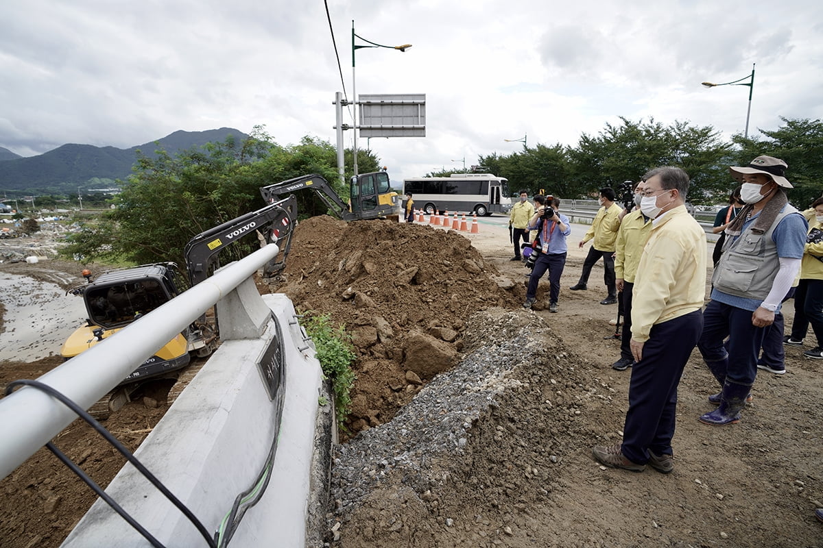
{"label": "back of the grey rectangular road sign on the tall pole", "polygon": [[361,137],[425,137],[425,94],[360,95]]}

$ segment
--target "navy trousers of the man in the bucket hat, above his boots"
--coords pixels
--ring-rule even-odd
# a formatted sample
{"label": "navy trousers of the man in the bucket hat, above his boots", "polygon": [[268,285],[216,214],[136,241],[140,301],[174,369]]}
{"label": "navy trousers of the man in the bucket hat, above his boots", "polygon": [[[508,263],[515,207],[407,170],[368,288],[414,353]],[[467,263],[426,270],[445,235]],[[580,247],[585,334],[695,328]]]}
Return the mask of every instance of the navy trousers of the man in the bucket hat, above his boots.
{"label": "navy trousers of the man in the bucket hat, above his boots", "polygon": [[[712,301],[703,311],[703,333],[697,348],[720,385],[731,380],[755,384],[757,355],[763,345],[764,327],[751,324],[752,311]],[[728,337],[727,347],[723,340]]]}

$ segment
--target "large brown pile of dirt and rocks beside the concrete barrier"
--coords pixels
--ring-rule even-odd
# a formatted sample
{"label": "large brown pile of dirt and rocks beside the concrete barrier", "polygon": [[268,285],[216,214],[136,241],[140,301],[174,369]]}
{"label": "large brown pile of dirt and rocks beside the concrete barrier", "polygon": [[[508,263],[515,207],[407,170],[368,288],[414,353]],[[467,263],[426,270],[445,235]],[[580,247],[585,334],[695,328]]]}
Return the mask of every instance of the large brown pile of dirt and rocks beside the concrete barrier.
{"label": "large brown pile of dirt and rocks beside the concrete barrier", "polygon": [[283,278],[269,290],[353,335],[352,432],[390,420],[454,366],[469,315],[517,304],[507,291],[513,283],[466,237],[417,224],[307,219],[295,229]]}

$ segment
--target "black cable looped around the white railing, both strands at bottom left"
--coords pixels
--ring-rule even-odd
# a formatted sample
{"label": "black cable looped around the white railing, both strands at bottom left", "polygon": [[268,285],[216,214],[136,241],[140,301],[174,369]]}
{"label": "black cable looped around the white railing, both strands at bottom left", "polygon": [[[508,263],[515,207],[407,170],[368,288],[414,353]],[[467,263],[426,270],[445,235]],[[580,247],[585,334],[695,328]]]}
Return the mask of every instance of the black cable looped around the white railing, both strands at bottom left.
{"label": "black cable looped around the white railing, both strands at bottom left", "polygon": [[[16,386],[30,386],[30,387],[35,388],[35,389],[40,389],[43,392],[45,392],[46,394],[49,394],[52,398],[57,399],[60,403],[63,403],[63,405],[65,405],[67,408],[71,409],[72,412],[75,412],[78,417],[80,417],[81,419],[86,421],[92,428],[95,429],[95,431],[97,431],[98,434],[102,435],[105,438],[105,440],[108,441],[109,444],[111,444],[114,447],[114,449],[117,449],[118,452],[120,454],[122,454],[123,457],[125,457],[126,460],[128,460],[129,463],[132,463],[133,467],[137,468],[137,471],[141,472],[143,477],[146,477],[146,480],[151,482],[151,485],[155,486],[158,490],[160,490],[160,492],[163,495],[165,495],[165,498],[168,499],[172,504],[174,504],[174,506],[176,506],[180,510],[180,512],[182,512],[186,516],[186,518],[188,518],[188,520],[194,525],[194,527],[196,527],[198,529],[198,532],[200,532],[200,534],[203,536],[203,538],[206,539],[206,542],[207,542],[208,546],[211,546],[212,548],[216,548],[216,544],[212,540],[212,536],[209,534],[206,527],[203,527],[203,524],[200,523],[200,520],[197,518],[197,516],[195,516],[192,513],[192,511],[189,510],[185,506],[185,504],[180,502],[180,500],[177,497],[175,497],[171,493],[171,491],[168,490],[166,488],[166,486],[164,486],[160,482],[160,480],[158,480],[154,476],[154,474],[149,472],[148,468],[143,466],[142,463],[139,460],[137,460],[137,458],[134,457],[134,455],[131,453],[131,451],[126,449],[126,447],[123,444],[121,444],[120,441],[117,440],[117,438],[115,438],[114,435],[111,434],[111,432],[106,430],[100,424],[100,422],[95,420],[94,417],[91,417],[91,415],[89,413],[87,413],[86,410],[82,409],[80,406],[77,405],[77,403],[74,403],[71,399],[67,398],[64,394],[58,392],[58,390],[54,389],[53,387],[51,387],[49,385],[45,385],[44,383],[41,383],[38,380],[30,380],[30,379],[14,380],[14,381],[12,381],[11,383],[9,383],[7,385],[6,395],[12,394],[12,389],[14,389],[14,387],[16,387]],[[160,548],[162,548],[163,545],[160,544],[159,541],[157,541],[153,536],[148,534],[148,532],[146,532],[134,520],[134,518],[132,518],[128,513],[126,513],[125,510],[123,510],[119,506],[119,504],[114,503],[114,500],[111,500],[109,495],[105,495],[105,491],[101,490],[100,486],[98,486],[95,483],[95,481],[93,481],[91,479],[91,477],[88,477],[86,475],[86,472],[83,472],[80,467],[77,467],[77,464],[72,463],[71,460],[69,458],[67,458],[63,453],[61,453],[59,451],[59,449],[54,447],[54,445],[51,442],[46,444],[46,447],[48,447],[49,450],[52,451],[52,453],[54,453],[55,456],[57,456],[57,458],[59,458],[61,461],[63,461],[63,463],[66,464],[72,470],[72,472],[77,474],[77,476],[80,477],[80,479],[82,481],[84,481],[86,483],[86,485],[90,486],[91,489],[94,490],[95,493],[97,493],[97,495],[100,496],[100,498],[105,500],[105,502],[107,504],[109,504],[109,506],[111,506],[112,509],[114,509],[114,511],[117,512],[120,515],[121,518],[125,519],[130,525],[132,525],[132,527],[137,529],[137,532],[140,532],[140,534],[142,536],[144,536],[147,541],[151,542],[152,546],[160,546]],[[71,463],[71,464],[69,464],[69,463]]]}

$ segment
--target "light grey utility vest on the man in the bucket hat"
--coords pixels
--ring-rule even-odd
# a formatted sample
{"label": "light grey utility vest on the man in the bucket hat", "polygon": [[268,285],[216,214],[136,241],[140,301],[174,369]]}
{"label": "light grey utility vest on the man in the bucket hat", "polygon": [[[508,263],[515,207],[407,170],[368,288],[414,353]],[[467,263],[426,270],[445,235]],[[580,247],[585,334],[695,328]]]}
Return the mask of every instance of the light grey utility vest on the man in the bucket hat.
{"label": "light grey utility vest on the man in the bucket hat", "polygon": [[714,288],[735,297],[765,299],[780,268],[772,233],[786,215],[795,213],[792,205],[786,205],[765,233],[752,233],[755,223],[751,223],[736,240],[727,238],[712,274]]}

